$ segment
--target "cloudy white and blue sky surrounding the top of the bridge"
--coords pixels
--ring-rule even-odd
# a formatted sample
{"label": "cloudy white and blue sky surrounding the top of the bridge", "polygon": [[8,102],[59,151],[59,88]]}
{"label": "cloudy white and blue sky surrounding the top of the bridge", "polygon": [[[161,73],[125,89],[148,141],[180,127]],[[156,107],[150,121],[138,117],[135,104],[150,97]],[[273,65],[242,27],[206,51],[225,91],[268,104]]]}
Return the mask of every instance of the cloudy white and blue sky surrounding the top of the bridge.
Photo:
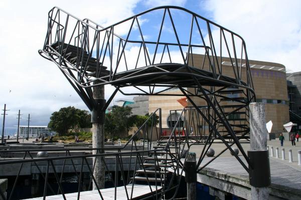
{"label": "cloudy white and blue sky surrounding the top of the bridge", "polygon": [[[249,59],[277,62],[301,71],[299,0],[1,0],[0,108],[6,103],[9,109],[6,133],[15,132],[19,109],[23,114],[21,125],[27,124],[28,113],[32,125],[47,125],[51,113],[61,107],[87,109],[57,66],[38,54],[46,36],[48,11],[55,5],[103,26],[152,7],[182,6],[241,35]],[[156,17],[149,15],[144,21],[157,23]],[[151,30],[147,39],[152,39]],[[121,35],[125,33],[120,30]],[[111,90],[106,86],[106,98]],[[122,97],[117,93],[114,99]],[[0,131],[2,121],[3,115]]]}

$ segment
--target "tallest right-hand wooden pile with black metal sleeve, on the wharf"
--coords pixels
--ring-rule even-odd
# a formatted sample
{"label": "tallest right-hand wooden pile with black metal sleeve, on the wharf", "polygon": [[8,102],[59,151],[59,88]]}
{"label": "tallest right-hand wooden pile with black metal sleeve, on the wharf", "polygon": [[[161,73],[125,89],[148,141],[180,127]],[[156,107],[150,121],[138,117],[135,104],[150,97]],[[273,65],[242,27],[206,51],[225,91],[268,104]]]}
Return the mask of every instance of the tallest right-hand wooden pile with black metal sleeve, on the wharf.
{"label": "tallest right-hand wooden pile with black metal sleeve, on the wharf", "polygon": [[265,126],[264,103],[250,103],[250,150],[248,157],[251,199],[268,199],[271,183],[267,150],[267,130]]}

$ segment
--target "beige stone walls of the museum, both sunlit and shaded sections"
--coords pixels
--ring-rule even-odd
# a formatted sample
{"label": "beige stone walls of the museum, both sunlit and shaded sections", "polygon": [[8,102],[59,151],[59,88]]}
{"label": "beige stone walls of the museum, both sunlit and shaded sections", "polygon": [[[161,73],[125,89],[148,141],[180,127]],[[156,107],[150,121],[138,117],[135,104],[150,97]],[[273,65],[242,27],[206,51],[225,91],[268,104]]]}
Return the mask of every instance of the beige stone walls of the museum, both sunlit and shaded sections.
{"label": "beige stone walls of the museum, both sunlit and shaded sections", "polygon": [[[194,66],[201,67],[204,55],[194,54]],[[222,59],[223,61],[230,61],[229,58]],[[239,61],[240,62],[240,61]],[[244,64],[245,61],[243,60]],[[190,60],[191,64],[191,60]],[[265,61],[257,61],[257,60],[249,60],[250,66],[254,64],[267,65],[267,66],[275,66],[275,67],[283,67],[282,64],[273,63],[273,62],[265,62]],[[204,68],[208,70],[209,64],[207,58],[205,58]],[[230,77],[234,77],[233,68],[229,65],[222,65],[222,74]],[[241,77],[243,81],[246,81],[246,68],[242,67]],[[266,121],[272,120],[273,127],[272,132],[282,132],[283,124],[289,121],[289,112],[288,105],[282,104],[282,100],[287,101],[287,85],[286,85],[286,76],[285,72],[273,70],[273,69],[259,69],[259,68],[251,68],[251,74],[254,84],[254,90],[256,94],[256,98],[260,101],[261,99],[275,99],[281,100],[281,103],[265,103],[265,115]],[[188,89],[189,90],[189,89]],[[181,94],[181,91],[169,91],[168,93],[178,93]],[[242,95],[240,95],[242,96]],[[244,96],[245,97],[245,96]],[[163,127],[168,127],[167,125],[167,117],[170,114],[170,109],[183,109],[183,106],[177,101],[177,99],[181,98],[181,96],[150,96],[149,97],[149,112],[153,112],[157,108],[162,108],[162,125]],[[206,104],[205,100],[192,97],[194,102],[198,105]],[[237,102],[229,102],[225,101],[221,104],[237,104]],[[188,103],[189,106],[192,104]],[[226,109],[225,111],[231,111],[231,108]],[[241,110],[243,111],[243,110]]]}

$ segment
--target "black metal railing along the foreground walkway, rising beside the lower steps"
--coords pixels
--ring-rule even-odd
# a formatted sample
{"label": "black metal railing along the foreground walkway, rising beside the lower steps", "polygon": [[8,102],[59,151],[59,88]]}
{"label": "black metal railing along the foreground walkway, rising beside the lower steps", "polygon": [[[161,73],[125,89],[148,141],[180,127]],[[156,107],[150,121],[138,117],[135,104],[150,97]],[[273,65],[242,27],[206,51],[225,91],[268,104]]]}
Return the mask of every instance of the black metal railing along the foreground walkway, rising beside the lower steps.
{"label": "black metal railing along the foreground walkway, rising beside the lower steps", "polygon": [[[157,115],[158,113],[158,115]],[[71,165],[71,168],[73,171],[69,171],[75,173],[77,182],[78,182],[78,191],[77,196],[78,199],[80,197],[80,193],[83,191],[83,172],[84,168],[86,168],[86,171],[89,173],[90,181],[89,186],[87,187],[88,190],[92,189],[92,183],[94,183],[97,187],[99,196],[101,199],[104,199],[101,189],[99,188],[95,177],[93,175],[94,171],[94,164],[92,162],[93,157],[103,157],[105,160],[105,168],[106,171],[111,171],[109,169],[109,163],[107,163],[108,160],[105,158],[110,157],[111,159],[115,159],[115,162],[111,165],[114,165],[114,173],[115,178],[112,177],[110,174],[110,180],[112,181],[114,185],[114,192],[115,192],[115,199],[117,199],[116,196],[116,190],[119,185],[117,175],[118,171],[121,172],[122,177],[122,183],[127,199],[131,199],[133,196],[133,192],[135,192],[134,188],[134,178],[130,177],[130,171],[134,171],[134,177],[135,174],[137,174],[135,171],[140,169],[144,171],[145,175],[145,181],[144,184],[149,185],[150,194],[146,196],[146,198],[151,197],[154,199],[161,199],[166,192],[177,189],[179,187],[179,184],[173,184],[175,181],[180,183],[179,178],[179,167],[183,166],[183,162],[180,160],[181,153],[180,149],[176,148],[176,153],[173,154],[171,152],[169,142],[166,143],[164,148],[153,148],[152,142],[147,142],[147,145],[138,145],[135,138],[137,138],[138,134],[141,134],[140,130],[144,129],[143,134],[140,136],[140,138],[143,138],[143,141],[148,140],[148,137],[152,138],[153,132],[157,134],[157,137],[159,138],[159,130],[160,127],[157,127],[158,119],[161,121],[161,109],[157,109],[154,113],[152,113],[148,119],[138,128],[138,130],[132,135],[132,137],[124,144],[123,146],[116,145],[114,147],[105,147],[105,148],[45,148],[45,149],[22,149],[22,150],[1,150],[0,154],[2,157],[9,157],[12,156],[13,153],[24,153],[24,156],[22,159],[20,158],[2,158],[0,160],[0,168],[5,168],[5,166],[10,167],[19,167],[18,172],[16,174],[16,179],[14,181],[13,187],[11,188],[11,192],[7,199],[12,199],[14,192],[16,192],[16,185],[18,181],[20,180],[20,175],[22,174],[22,170],[25,167],[25,163],[30,163],[31,167],[34,168],[34,170],[41,174],[42,179],[44,180],[44,190],[43,190],[43,199],[46,198],[47,195],[56,195],[60,194],[62,198],[66,199],[66,193],[64,192],[62,180],[64,178],[64,172],[66,165]],[[159,122],[158,122],[159,123]],[[150,127],[149,127],[150,126]],[[148,128],[149,127],[149,128]],[[173,134],[171,134],[172,138]],[[171,139],[169,139],[171,140]],[[177,144],[176,144],[177,145]],[[92,154],[92,150],[97,150],[96,154]],[[102,151],[105,151],[104,153],[99,153]],[[37,153],[39,151],[46,151],[47,153],[58,153],[58,152],[64,152],[64,156],[53,156],[53,157],[35,157],[34,153]],[[89,153],[84,153],[81,155],[75,155],[75,152],[78,151],[85,151]],[[164,155],[166,157],[166,161],[162,162],[162,156]],[[147,169],[143,165],[145,163],[149,163],[149,160],[146,160],[145,157],[153,157],[154,162],[154,168],[155,168],[155,176],[159,175],[160,179],[156,179],[154,183],[150,182],[150,178],[147,174]],[[158,157],[161,157],[161,159],[158,159]],[[169,158],[169,159],[168,159]],[[13,159],[13,160],[12,160]],[[128,163],[124,164],[125,159],[127,159]],[[94,159],[95,160],[95,159]],[[92,162],[92,163],[91,163]],[[92,165],[92,166],[91,166]],[[158,167],[159,169],[157,169]],[[169,170],[168,170],[169,168]],[[61,169],[59,171],[59,169]],[[126,174],[127,171],[127,174]],[[168,174],[170,171],[174,171],[172,175],[169,176],[169,180],[167,179]],[[183,169],[182,169],[183,171]],[[55,176],[55,180],[58,185],[58,190],[53,188],[52,184],[49,182],[49,174],[52,173]],[[66,173],[66,172],[65,172]],[[163,180],[164,178],[164,180]],[[153,188],[151,185],[155,184],[155,188]],[[128,187],[128,185],[131,185]],[[4,198],[6,199],[6,198]]]}

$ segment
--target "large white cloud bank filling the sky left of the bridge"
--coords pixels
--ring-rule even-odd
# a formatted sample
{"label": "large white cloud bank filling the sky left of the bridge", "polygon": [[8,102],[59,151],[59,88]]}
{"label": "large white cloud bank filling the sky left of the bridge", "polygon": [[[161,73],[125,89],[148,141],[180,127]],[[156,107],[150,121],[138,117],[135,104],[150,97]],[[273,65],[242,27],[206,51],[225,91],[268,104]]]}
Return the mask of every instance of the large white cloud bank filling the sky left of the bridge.
{"label": "large white cloud bank filling the sky left of the bridge", "polygon": [[[7,126],[17,123],[18,109],[24,114],[32,113],[33,125],[47,124],[50,114],[63,106],[87,109],[58,67],[38,54],[46,36],[48,11],[54,5],[79,18],[88,17],[99,24],[109,25],[133,15],[138,1],[2,0],[0,107],[2,109],[7,103],[11,109]],[[107,89],[107,98],[112,89]],[[22,120],[26,123],[26,119]]]}

